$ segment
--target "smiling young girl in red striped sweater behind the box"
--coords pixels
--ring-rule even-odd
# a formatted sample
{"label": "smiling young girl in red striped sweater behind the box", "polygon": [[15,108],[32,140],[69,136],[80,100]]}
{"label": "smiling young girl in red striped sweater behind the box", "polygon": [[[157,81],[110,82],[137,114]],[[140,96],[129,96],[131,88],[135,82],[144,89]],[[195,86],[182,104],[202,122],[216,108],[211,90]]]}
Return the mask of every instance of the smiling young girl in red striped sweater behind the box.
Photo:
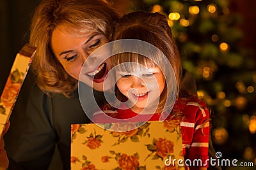
{"label": "smiling young girl in red striped sweater behind the box", "polygon": [[[207,169],[209,111],[203,101],[196,96],[189,96],[180,88],[180,57],[166,18],[159,13],[136,11],[116,22],[114,30],[114,40],[139,39],[156,46],[172,67],[166,67],[168,65],[163,55],[154,50],[149,57],[132,52],[114,55],[115,96],[121,103],[118,106],[105,104],[103,112],[93,115],[93,122],[109,123],[113,122],[113,118],[116,122],[161,120],[164,113],[169,111],[167,121],[175,118],[181,122],[184,158],[191,162],[202,160],[201,166],[191,166],[189,169]],[[145,50],[143,46],[138,48]],[[175,80],[170,78],[172,73]],[[173,83],[176,85],[174,88]],[[172,90],[177,94],[176,97]],[[172,101],[175,101],[174,106]]]}

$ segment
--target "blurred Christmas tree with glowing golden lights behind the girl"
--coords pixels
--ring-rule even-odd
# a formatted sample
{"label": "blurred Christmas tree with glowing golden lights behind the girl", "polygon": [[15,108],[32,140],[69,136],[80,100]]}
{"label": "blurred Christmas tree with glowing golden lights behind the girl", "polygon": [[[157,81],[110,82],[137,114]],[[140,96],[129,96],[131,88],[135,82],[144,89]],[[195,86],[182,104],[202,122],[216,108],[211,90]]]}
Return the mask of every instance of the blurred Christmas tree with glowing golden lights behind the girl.
{"label": "blurred Christmas tree with glowing golden lights behind the girl", "polygon": [[241,15],[230,12],[227,0],[141,0],[130,7],[127,12],[166,15],[182,66],[195,76],[198,96],[211,108],[215,150],[221,159],[255,166],[256,70],[250,52],[239,45]]}

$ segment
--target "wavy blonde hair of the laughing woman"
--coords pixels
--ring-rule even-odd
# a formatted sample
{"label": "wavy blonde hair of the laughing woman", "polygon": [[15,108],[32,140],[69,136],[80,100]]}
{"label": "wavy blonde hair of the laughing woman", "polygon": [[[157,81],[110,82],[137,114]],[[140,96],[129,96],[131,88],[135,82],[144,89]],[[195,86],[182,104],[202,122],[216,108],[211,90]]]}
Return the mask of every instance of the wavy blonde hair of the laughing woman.
{"label": "wavy blonde hair of the laughing woman", "polygon": [[77,80],[65,71],[51,49],[52,31],[57,26],[72,36],[99,32],[110,38],[113,22],[119,18],[120,13],[102,0],[43,0],[33,15],[30,35],[30,44],[37,47],[32,66],[38,87],[47,94],[65,96],[77,89]]}

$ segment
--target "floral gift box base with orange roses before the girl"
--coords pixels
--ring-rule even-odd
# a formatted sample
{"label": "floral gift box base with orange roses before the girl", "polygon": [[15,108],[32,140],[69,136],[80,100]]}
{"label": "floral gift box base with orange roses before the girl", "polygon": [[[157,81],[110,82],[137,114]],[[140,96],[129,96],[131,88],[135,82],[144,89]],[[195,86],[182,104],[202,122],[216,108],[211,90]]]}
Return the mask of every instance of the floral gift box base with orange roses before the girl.
{"label": "floral gift box base with orange roses before the girl", "polygon": [[175,121],[72,124],[71,136],[72,170],[184,169]]}

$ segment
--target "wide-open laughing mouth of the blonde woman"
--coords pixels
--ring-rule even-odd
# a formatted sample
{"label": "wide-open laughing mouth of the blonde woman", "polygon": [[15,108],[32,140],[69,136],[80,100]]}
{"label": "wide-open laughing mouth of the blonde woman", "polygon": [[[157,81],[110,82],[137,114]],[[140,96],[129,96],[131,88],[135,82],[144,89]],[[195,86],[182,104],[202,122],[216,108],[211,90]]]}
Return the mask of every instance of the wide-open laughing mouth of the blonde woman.
{"label": "wide-open laughing mouth of the blonde woman", "polygon": [[95,71],[92,71],[90,73],[87,73],[86,76],[91,78],[96,83],[100,83],[100,82],[104,81],[107,74],[108,74],[108,68],[107,68],[106,62],[104,62],[103,64],[101,64],[98,67],[98,69],[96,69]]}

